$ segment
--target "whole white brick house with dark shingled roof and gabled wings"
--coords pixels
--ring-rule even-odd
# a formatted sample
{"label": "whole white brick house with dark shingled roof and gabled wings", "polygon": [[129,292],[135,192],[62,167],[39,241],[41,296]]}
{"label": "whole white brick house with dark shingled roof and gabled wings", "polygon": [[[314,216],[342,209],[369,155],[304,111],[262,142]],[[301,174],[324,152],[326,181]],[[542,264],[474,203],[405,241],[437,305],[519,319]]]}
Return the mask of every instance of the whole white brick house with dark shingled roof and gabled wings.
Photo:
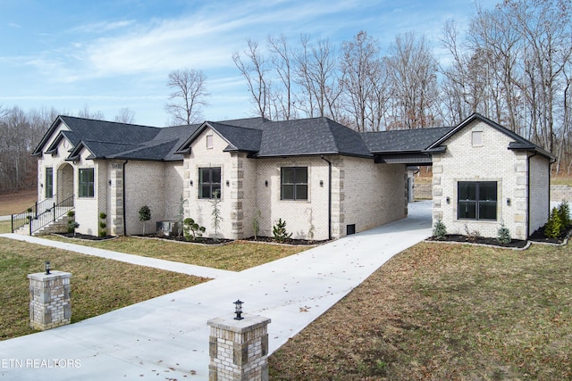
{"label": "whole white brick house with dark shingled roof and gabled wings", "polygon": [[[470,140],[467,145],[479,128],[480,145]],[[139,208],[147,204],[152,216],[147,226],[177,219],[182,208],[185,218],[197,220],[212,236],[216,193],[220,236],[253,236],[255,219],[259,235],[272,236],[282,219],[292,237],[316,240],[406,217],[407,168],[432,162],[434,219],[450,229],[470,223],[492,236],[504,223],[514,237],[526,237],[548,218],[552,159],[478,114],[456,128],[369,133],[327,118],[153,128],[59,116],[34,155],[38,201],[72,199],[80,233],[97,235],[105,212],[108,233],[140,234]],[[495,162],[483,160],[492,157]],[[479,159],[483,164],[475,165]],[[494,193],[496,183],[498,202],[460,200],[454,192],[459,182],[462,197],[475,186],[479,195]],[[508,206],[501,203],[506,199]],[[496,214],[460,213],[456,205],[496,208]]]}

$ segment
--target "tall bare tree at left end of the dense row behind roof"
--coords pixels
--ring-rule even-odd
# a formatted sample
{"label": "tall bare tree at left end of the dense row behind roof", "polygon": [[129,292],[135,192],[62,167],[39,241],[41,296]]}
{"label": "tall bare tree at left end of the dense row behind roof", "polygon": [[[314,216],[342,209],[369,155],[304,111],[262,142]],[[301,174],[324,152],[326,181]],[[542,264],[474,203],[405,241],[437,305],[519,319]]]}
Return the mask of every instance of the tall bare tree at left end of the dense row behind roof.
{"label": "tall bare tree at left end of the dense row behind roof", "polygon": [[243,52],[247,62],[243,62],[239,52],[232,54],[232,61],[247,80],[248,93],[252,96],[257,114],[272,119],[270,112],[271,81],[267,77],[268,62],[258,52],[258,43],[248,39],[248,49]]}

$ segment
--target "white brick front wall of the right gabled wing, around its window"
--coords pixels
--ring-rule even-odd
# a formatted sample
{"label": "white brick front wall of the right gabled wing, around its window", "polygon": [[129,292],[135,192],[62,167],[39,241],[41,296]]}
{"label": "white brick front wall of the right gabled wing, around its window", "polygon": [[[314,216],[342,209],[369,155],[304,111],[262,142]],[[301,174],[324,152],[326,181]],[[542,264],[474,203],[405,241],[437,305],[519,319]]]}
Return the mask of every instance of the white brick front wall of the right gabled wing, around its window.
{"label": "white brick front wall of the right gabled wing, around its window", "polygon": [[[483,131],[483,145],[472,145],[474,129]],[[433,224],[442,219],[450,234],[466,234],[468,229],[481,236],[496,237],[504,223],[513,238],[526,239],[527,155],[510,151],[507,148],[510,141],[507,135],[475,120],[445,142],[445,153],[433,154]],[[541,168],[545,168],[548,175],[546,159],[539,159],[537,166],[535,171],[541,172]],[[458,219],[458,181],[497,182],[496,221]],[[548,199],[548,193],[542,195],[541,187],[537,188],[537,200]],[[447,203],[447,197],[450,203]],[[543,217],[538,214],[534,219]]]}

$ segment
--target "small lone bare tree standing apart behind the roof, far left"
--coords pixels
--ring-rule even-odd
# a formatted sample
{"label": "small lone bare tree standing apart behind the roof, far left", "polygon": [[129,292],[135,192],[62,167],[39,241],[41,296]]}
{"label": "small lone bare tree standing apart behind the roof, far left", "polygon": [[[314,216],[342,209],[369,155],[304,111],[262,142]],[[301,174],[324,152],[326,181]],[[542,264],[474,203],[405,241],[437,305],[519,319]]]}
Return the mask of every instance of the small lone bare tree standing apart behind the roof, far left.
{"label": "small lone bare tree standing apart behind the roof, far left", "polygon": [[173,123],[195,123],[201,118],[202,106],[206,106],[206,77],[201,70],[173,70],[169,73],[167,87],[172,88],[170,103],[165,111]]}

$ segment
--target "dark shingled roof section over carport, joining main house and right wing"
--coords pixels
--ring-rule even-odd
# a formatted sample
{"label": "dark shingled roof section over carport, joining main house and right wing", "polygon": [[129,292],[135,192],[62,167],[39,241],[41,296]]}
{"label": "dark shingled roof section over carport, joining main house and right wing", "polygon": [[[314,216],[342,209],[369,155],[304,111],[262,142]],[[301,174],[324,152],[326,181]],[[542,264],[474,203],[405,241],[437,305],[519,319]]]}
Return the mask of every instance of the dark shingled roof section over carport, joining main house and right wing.
{"label": "dark shingled roof section over carport, joining main house and right wing", "polygon": [[419,152],[443,137],[452,127],[399,129],[364,132],[362,136],[371,153]]}

